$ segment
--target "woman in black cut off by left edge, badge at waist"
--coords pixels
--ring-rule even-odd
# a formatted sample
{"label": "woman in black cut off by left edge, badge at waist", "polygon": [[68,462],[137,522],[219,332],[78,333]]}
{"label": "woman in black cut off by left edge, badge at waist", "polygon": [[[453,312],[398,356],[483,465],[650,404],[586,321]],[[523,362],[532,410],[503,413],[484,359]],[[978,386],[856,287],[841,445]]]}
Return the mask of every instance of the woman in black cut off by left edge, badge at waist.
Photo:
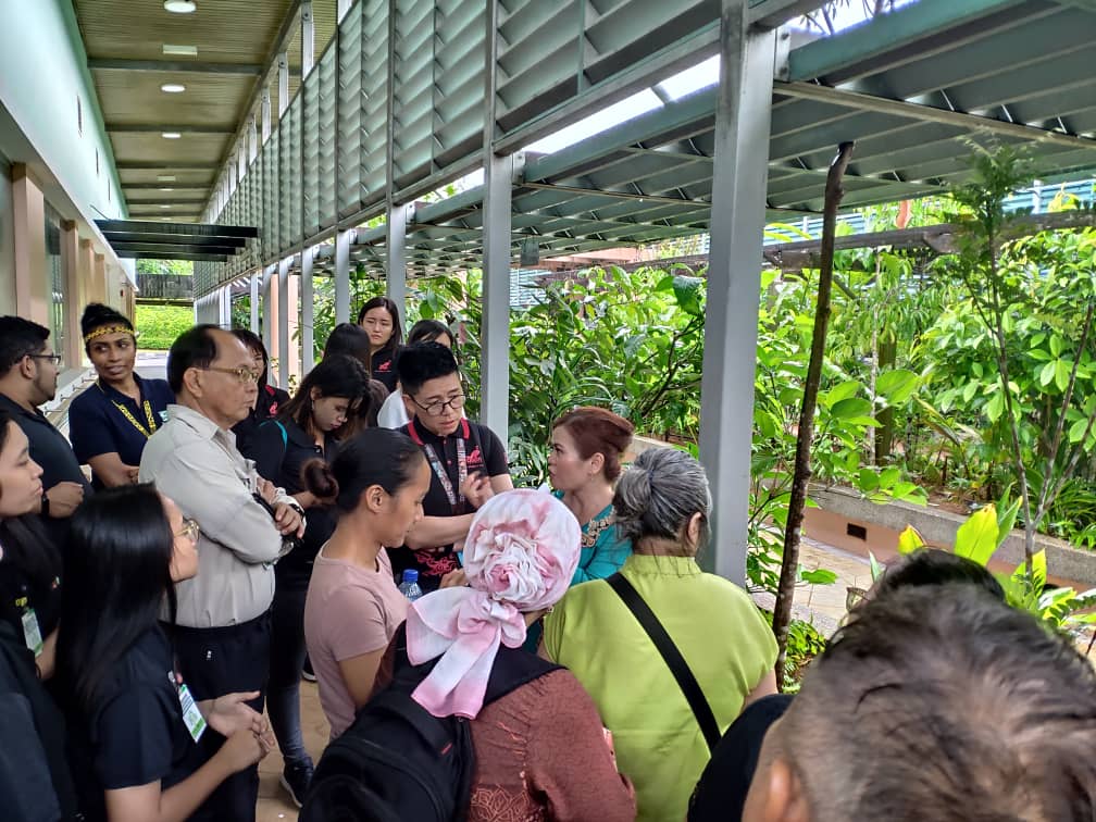
{"label": "woman in black cut off by left edge, badge at waist", "polygon": [[0,410],[0,620],[11,625],[34,655],[38,675],[54,670],[60,607],[61,560],[31,514],[42,499],[42,467],[26,435]]}

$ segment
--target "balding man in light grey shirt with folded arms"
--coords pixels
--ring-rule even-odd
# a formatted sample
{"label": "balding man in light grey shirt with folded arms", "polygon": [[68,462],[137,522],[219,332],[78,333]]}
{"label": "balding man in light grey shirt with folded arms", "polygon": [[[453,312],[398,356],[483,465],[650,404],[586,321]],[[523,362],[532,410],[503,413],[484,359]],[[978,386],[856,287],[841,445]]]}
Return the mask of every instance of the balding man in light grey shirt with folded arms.
{"label": "balding man in light grey shirt with folded arms", "polygon": [[[175,585],[180,673],[195,700],[255,693],[251,705],[262,711],[274,562],[287,550],[283,537],[305,528],[293,498],[236,448],[230,429],[254,404],[256,379],[251,353],[227,331],[195,326],[175,340],[168,381],[178,404],[145,446],[140,481],[155,482],[201,528],[197,575]],[[220,742],[206,729],[199,744],[212,756]],[[258,792],[253,767],[222,783],[194,819],[254,820]]]}

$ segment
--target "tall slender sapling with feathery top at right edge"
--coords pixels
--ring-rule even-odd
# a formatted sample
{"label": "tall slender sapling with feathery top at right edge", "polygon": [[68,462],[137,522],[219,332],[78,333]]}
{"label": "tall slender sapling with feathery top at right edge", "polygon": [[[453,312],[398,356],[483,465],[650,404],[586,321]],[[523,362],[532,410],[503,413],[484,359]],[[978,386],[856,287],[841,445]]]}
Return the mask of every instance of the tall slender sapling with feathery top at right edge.
{"label": "tall slender sapling with feathery top at right edge", "polygon": [[975,351],[992,352],[994,367],[981,367],[981,385],[968,381],[963,399],[978,397],[1002,427],[1030,576],[1037,529],[1082,457],[1096,449],[1096,232],[1050,241],[1031,231],[1026,212],[1005,210],[1012,192],[1032,175],[1017,149],[975,147],[973,163],[972,182],[952,191],[963,208],[951,218],[960,226],[958,253],[941,271],[961,285],[970,312],[956,324],[974,338]]}

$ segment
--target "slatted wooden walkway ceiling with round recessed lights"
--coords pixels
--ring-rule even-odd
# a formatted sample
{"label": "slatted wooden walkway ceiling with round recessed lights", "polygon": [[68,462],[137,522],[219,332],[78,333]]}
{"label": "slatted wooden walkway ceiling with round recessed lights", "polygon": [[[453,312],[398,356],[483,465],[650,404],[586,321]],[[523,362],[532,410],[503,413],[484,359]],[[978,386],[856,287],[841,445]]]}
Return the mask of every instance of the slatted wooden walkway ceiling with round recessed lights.
{"label": "slatted wooden walkway ceiling with round recessed lights", "polygon": [[[336,1],[311,2],[318,49],[334,33]],[[279,50],[289,93],[300,83],[300,0],[198,0],[192,14],[162,0],[72,4],[129,215],[196,220],[264,90],[277,123]],[[167,55],[165,45],[195,46],[197,56]],[[165,83],[185,91],[165,93]]]}

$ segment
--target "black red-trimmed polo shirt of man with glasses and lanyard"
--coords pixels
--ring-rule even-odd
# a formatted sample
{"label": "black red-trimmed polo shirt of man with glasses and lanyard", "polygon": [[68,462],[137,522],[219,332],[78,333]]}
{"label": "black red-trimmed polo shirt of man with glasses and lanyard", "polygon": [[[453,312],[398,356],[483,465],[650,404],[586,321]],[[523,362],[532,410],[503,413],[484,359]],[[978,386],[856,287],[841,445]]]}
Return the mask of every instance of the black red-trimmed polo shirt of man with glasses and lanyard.
{"label": "black red-trimmed polo shirt of man with glasses and lanyard", "polygon": [[[430,445],[442,461],[446,476],[453,486],[455,494],[460,493],[460,466],[457,460],[457,441],[465,443],[465,459],[468,465],[468,476],[484,473],[488,477],[499,477],[510,473],[506,460],[506,448],[494,432],[478,422],[461,420],[456,432],[446,437],[439,437],[426,430],[418,420],[412,420],[400,431],[420,445]],[[456,509],[449,503],[442,480],[437,478],[433,465],[430,471],[430,490],[422,501],[422,512],[425,516],[460,516],[470,514],[475,509],[467,500],[457,503]],[[393,568],[403,571],[413,568],[419,571],[420,584],[425,589],[435,589],[442,576],[458,567],[457,555],[453,546],[443,546],[441,551],[396,551],[392,556]]]}

